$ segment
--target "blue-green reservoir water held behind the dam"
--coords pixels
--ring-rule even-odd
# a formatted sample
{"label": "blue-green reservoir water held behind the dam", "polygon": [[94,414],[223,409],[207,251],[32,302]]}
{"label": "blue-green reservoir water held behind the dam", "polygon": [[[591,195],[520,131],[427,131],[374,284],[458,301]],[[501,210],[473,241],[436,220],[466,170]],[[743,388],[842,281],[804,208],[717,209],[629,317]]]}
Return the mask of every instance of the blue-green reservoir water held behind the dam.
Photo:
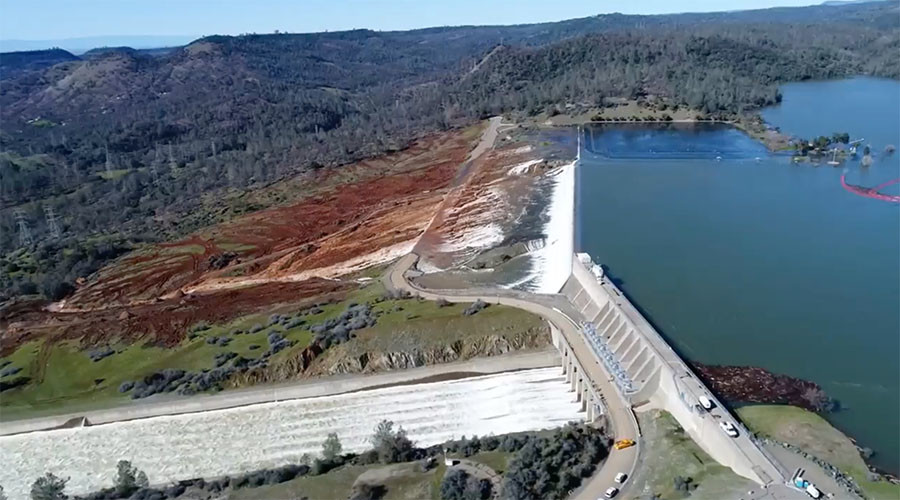
{"label": "blue-green reservoir water held behind the dam", "polygon": [[[828,418],[900,470],[900,206],[842,188],[900,177],[900,82],[786,85],[763,116],[848,132],[874,164],[794,165],[727,126],[598,126],[577,169],[576,246],[685,357],[812,380]],[[887,188],[897,194],[898,186]]]}

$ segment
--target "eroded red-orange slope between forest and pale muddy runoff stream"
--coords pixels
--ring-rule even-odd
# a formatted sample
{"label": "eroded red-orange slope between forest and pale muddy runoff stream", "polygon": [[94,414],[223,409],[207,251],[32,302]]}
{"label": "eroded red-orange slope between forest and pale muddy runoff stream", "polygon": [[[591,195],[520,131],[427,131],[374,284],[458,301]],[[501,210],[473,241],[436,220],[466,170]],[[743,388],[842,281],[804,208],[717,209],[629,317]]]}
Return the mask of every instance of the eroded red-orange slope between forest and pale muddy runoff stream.
{"label": "eroded red-orange slope between forest and pale muddy runoff stream", "polygon": [[427,226],[471,135],[431,137],[402,152],[322,173],[304,183],[311,194],[297,203],[127,256],[79,288],[60,310],[333,277],[385,260],[411,246]]}

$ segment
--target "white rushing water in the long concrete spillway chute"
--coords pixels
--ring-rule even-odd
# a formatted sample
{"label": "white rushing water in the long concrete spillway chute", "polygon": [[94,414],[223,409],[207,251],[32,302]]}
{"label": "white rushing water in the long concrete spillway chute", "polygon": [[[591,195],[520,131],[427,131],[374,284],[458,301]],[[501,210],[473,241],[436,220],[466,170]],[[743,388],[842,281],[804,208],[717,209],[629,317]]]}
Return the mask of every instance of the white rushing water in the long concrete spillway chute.
{"label": "white rushing water in the long concrete spillway chute", "polygon": [[71,477],[67,492],[112,486],[119,460],[153,484],[297,463],[329,432],[345,451],[371,448],[375,425],[392,420],[419,446],[462,435],[558,427],[583,419],[559,368],[389,387],[95,427],[0,437],[0,484],[27,498],[46,472]]}

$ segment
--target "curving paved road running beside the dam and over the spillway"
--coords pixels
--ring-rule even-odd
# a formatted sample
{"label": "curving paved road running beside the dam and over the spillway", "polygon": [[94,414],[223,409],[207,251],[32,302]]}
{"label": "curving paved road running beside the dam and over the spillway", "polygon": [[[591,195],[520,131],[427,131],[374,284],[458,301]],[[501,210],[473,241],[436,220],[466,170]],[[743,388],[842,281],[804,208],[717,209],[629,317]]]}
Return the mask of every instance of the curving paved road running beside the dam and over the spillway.
{"label": "curving paved road running beside the dam and over the spillway", "polygon": [[[639,444],[624,450],[610,450],[609,458],[601,468],[574,493],[576,500],[596,500],[603,498],[603,492],[615,485],[615,477],[619,472],[632,475],[640,454],[639,429],[631,407],[624,401],[611,383],[611,377],[602,367],[593,351],[584,342],[580,327],[565,314],[565,308],[571,308],[568,301],[559,297],[530,294],[512,290],[425,290],[416,287],[406,279],[406,271],[418,260],[416,254],[409,254],[397,261],[383,277],[383,282],[388,289],[406,290],[419,296],[436,300],[444,299],[449,302],[474,302],[481,299],[484,302],[503,304],[517,307],[525,311],[538,314],[552,323],[563,334],[563,337],[572,347],[575,357],[584,367],[589,378],[604,397],[608,410],[608,418],[612,427],[614,439],[634,439]],[[617,498],[628,497],[628,482],[621,487],[622,492]]]}

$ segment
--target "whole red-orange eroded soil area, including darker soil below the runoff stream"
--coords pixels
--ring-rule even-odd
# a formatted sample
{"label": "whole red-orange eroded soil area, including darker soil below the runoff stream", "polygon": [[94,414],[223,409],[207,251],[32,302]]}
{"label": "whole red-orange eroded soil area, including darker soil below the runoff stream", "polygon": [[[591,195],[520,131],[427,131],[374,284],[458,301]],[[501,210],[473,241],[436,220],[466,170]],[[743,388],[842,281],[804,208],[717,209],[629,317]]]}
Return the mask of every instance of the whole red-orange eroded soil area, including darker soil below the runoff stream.
{"label": "whole red-orange eroded soil area, including darker soil below the runoff stream", "polygon": [[341,293],[353,285],[319,278],[411,249],[477,137],[471,130],[436,135],[401,152],[285,181],[310,194],[128,255],[49,311],[4,312],[2,352],[31,338],[150,336],[174,344],[198,321]]}

